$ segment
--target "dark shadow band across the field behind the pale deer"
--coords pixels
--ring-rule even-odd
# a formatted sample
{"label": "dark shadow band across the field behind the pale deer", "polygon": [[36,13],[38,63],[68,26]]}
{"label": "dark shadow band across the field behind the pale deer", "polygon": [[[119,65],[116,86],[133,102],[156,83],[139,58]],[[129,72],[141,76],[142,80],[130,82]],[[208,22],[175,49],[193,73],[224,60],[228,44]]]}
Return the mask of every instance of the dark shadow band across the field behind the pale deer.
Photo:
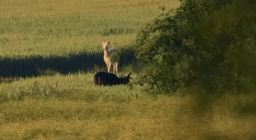
{"label": "dark shadow band across the field behind the pale deer", "polygon": [[[120,66],[135,61],[135,54],[121,55]],[[0,77],[31,77],[39,76],[40,71],[53,70],[66,75],[79,71],[94,71],[95,66],[105,66],[103,52],[80,52],[67,56],[31,56],[25,58],[2,58],[0,60]],[[107,69],[107,68],[106,68]]]}

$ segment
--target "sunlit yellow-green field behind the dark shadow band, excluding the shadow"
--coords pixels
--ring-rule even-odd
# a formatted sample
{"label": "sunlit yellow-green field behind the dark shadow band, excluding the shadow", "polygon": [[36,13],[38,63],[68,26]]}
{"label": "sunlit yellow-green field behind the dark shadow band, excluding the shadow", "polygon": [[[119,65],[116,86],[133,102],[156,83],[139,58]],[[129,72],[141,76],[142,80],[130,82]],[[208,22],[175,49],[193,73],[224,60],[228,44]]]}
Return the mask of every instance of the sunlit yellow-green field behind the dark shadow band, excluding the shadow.
{"label": "sunlit yellow-green field behind the dark shadow band, excluding the shadow", "polygon": [[65,56],[102,51],[100,42],[123,47],[178,0],[1,1],[0,56]]}

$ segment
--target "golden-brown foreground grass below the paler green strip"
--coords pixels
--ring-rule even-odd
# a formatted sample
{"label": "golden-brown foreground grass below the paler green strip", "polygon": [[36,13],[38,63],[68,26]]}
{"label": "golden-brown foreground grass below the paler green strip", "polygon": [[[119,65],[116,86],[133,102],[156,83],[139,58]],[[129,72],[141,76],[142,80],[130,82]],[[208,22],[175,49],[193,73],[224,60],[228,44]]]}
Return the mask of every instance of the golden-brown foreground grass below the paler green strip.
{"label": "golden-brown foreground grass below the paler green strip", "polygon": [[94,102],[27,98],[1,103],[0,135],[15,139],[254,138],[255,114],[241,117],[232,108],[240,99],[219,97],[212,108],[196,115],[190,96],[145,95],[129,102],[100,97]]}

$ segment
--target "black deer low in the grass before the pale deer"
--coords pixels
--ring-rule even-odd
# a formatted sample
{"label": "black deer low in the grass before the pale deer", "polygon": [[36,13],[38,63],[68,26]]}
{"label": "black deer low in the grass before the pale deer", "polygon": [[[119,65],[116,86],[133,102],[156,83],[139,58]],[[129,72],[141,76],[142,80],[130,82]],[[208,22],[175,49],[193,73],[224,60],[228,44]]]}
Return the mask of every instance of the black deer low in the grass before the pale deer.
{"label": "black deer low in the grass before the pale deer", "polygon": [[119,85],[119,84],[129,84],[130,83],[130,74],[127,76],[121,76],[121,78],[117,77],[117,75],[107,72],[98,72],[96,75],[94,75],[94,84],[95,85]]}

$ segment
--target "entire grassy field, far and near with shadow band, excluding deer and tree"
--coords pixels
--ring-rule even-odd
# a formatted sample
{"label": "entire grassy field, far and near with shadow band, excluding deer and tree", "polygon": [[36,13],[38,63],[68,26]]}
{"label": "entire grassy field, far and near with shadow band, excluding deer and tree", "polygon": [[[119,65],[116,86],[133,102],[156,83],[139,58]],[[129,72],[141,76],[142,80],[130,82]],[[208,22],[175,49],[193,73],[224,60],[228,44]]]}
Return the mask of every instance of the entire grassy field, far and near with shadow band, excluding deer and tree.
{"label": "entire grassy field, far and near with shadow band, excluding deer and tree", "polygon": [[0,3],[0,139],[256,138],[253,94],[155,96],[133,84],[134,71],[129,86],[94,85],[107,70],[101,42],[126,47],[178,0]]}

